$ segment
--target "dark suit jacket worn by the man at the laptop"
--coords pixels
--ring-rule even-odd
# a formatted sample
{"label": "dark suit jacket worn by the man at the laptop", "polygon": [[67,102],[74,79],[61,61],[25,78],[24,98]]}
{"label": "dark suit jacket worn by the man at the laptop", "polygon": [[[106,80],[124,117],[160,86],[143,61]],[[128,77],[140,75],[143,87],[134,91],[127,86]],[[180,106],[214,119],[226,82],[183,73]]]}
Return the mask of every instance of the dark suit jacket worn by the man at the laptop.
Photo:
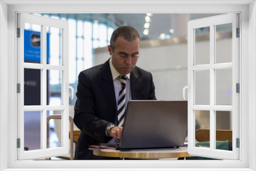
{"label": "dark suit jacket worn by the man at the laptop", "polygon": [[[75,159],[78,160],[92,158],[89,145],[107,143],[112,139],[105,136],[106,126],[116,122],[117,113],[109,60],[82,71],[78,76],[74,116],[74,123],[81,130],[75,151]],[[130,79],[133,100],[156,99],[150,72],[135,67]]]}

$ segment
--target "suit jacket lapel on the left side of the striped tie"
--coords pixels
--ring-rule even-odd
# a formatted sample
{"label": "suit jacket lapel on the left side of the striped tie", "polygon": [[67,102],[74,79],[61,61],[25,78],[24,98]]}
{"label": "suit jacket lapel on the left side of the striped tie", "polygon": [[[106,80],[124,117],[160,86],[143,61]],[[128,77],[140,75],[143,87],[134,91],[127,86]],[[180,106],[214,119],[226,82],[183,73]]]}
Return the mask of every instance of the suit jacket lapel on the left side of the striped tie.
{"label": "suit jacket lapel on the left side of the striped tie", "polygon": [[[104,96],[106,98],[106,101],[108,102],[111,112],[116,114],[116,96],[109,62],[109,60],[106,61],[102,67],[101,89],[103,90]],[[115,115],[113,117],[115,118]]]}

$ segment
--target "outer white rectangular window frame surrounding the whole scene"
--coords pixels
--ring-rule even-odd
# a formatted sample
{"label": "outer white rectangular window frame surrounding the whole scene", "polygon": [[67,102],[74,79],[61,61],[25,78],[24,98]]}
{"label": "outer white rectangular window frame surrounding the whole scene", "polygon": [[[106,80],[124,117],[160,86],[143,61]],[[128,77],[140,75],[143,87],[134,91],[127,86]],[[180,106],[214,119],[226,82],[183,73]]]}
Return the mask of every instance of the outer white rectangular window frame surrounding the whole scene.
{"label": "outer white rectangular window frame surrounding the whole scene", "polygon": [[[26,4],[27,3],[27,4]],[[35,3],[32,5],[32,3]],[[38,5],[40,3],[40,5]],[[63,1],[2,1],[0,2],[0,22],[1,22],[1,115],[0,115],[0,167],[1,170],[36,170],[36,168],[46,168],[45,170],[74,170],[74,168],[131,168],[132,166],[141,170],[145,168],[169,168],[169,170],[255,170],[255,125],[256,125],[256,67],[255,67],[255,46],[256,46],[256,5],[255,1],[84,1],[74,6],[71,5],[52,5],[61,4]],[[77,2],[68,2],[76,4]],[[202,4],[200,4],[202,3]],[[221,3],[221,4],[220,4]],[[7,5],[8,4],[8,5]],[[26,4],[26,5],[23,5]],[[44,5],[41,5],[44,4]],[[16,13],[17,12],[36,12],[36,13],[240,13],[241,21],[241,49],[240,49],[240,160],[223,161],[17,161],[16,158]],[[248,13],[249,11],[249,13]],[[8,22],[7,22],[8,20]],[[8,34],[8,37],[7,37]],[[250,34],[250,36],[248,36]],[[8,40],[8,49],[6,39]],[[8,58],[3,57],[8,56]],[[8,66],[8,74],[6,74]],[[8,89],[7,89],[8,88]],[[8,90],[5,93],[6,89]],[[182,88],[181,88],[182,89]],[[249,93],[250,90],[250,93]],[[8,96],[2,96],[4,95]],[[6,102],[6,97],[8,101]],[[6,107],[7,106],[7,107]],[[7,115],[8,114],[8,115]],[[7,128],[7,131],[6,131]],[[13,134],[15,133],[15,134]],[[249,136],[250,135],[250,136]],[[249,147],[250,145],[250,147]],[[7,148],[8,147],[8,148]],[[8,157],[6,157],[8,156]],[[71,168],[72,166],[72,168]],[[19,169],[20,168],[20,169]],[[52,169],[51,169],[52,168]],[[71,168],[71,169],[67,169]],[[172,169],[174,168],[174,169]],[[229,169],[228,169],[229,168]],[[37,169],[39,170],[39,169]],[[61,170],[61,169],[60,169]],[[97,169],[95,169],[97,170]],[[118,169],[120,170],[120,169]]]}

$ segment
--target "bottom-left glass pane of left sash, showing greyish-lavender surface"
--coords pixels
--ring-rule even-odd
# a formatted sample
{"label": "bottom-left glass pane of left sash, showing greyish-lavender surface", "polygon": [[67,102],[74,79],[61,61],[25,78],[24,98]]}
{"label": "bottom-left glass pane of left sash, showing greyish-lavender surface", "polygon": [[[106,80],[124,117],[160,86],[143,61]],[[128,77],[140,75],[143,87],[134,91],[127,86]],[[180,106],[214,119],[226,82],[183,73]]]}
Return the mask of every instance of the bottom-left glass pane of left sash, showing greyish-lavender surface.
{"label": "bottom-left glass pane of left sash, showing greyish-lavender surface", "polygon": [[24,151],[41,149],[41,111],[24,112]]}

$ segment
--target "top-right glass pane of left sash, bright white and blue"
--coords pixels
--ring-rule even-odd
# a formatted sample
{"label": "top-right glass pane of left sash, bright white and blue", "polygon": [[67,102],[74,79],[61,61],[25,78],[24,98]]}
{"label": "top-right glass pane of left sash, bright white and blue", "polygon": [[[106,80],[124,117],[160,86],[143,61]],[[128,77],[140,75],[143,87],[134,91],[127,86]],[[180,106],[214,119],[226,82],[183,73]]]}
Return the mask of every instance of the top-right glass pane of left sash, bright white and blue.
{"label": "top-right glass pane of left sash, bright white and blue", "polygon": [[61,65],[61,29],[47,27],[50,31],[50,36],[47,37],[47,49],[50,49],[50,54],[47,54],[47,63],[50,65]]}

